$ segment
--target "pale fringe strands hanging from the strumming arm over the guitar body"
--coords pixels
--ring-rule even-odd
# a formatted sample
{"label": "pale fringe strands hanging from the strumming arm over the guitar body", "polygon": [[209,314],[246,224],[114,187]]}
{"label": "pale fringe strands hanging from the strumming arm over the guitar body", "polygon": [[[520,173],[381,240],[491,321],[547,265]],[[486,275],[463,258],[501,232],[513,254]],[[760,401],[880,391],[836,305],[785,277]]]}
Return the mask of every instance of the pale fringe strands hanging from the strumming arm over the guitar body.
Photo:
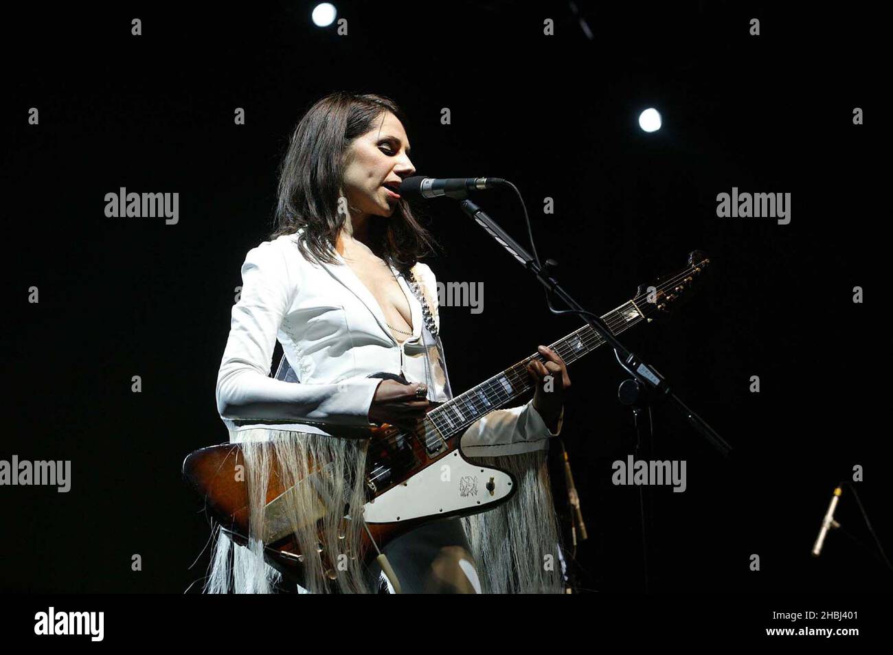
{"label": "pale fringe strands hanging from the strumming arm over the guitar body", "polygon": [[[211,558],[211,570],[204,585],[205,593],[273,593],[281,574],[263,560],[263,523],[272,457],[279,462],[278,473],[286,489],[288,520],[297,535],[304,561],[305,580],[302,586],[311,593],[372,593],[362,558],[357,553],[362,544],[363,492],[367,439],[335,439],[290,430],[252,427],[232,431],[230,442],[240,444],[245,457],[248,510],[250,517],[249,547],[233,543],[218,528]],[[322,473],[309,475],[309,462],[325,462]],[[316,521],[307,521],[320,513],[321,499],[327,499],[328,511],[318,534]],[[342,520],[349,504],[350,520]],[[339,535],[341,538],[339,538]],[[317,552],[321,542],[330,553],[330,568],[336,579],[327,577]],[[338,568],[338,554],[342,568]],[[230,564],[231,560],[231,564]]]}

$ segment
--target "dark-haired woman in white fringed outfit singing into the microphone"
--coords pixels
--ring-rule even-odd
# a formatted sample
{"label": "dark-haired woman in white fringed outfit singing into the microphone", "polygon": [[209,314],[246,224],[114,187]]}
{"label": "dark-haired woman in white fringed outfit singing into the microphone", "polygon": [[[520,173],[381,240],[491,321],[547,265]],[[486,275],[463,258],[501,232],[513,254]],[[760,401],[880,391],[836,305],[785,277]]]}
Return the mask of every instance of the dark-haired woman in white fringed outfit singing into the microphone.
{"label": "dark-haired woman in white fringed outfit singing into the microphone", "polygon": [[[375,593],[389,586],[380,569],[355,556],[369,440],[334,434],[381,423],[416,427],[431,402],[452,397],[436,280],[418,261],[432,240],[396,193],[415,171],[402,117],[380,95],[336,93],[314,104],[291,137],[277,229],[246,255],[217,379],[221,419],[246,458],[252,539],[243,547],[218,533],[207,592],[294,591],[263,560],[263,471],[271,460],[261,444],[274,445],[286,488],[299,490],[289,511],[301,552],[320,545],[349,556],[338,571],[305,556],[303,587]],[[289,375],[270,377],[277,340]],[[561,590],[560,566],[547,565],[559,554],[545,454],[561,430],[570,380],[557,353],[539,352],[545,364],[531,360],[527,369],[533,399],[490,412],[462,437],[472,461],[513,472],[517,493],[497,509],[435,521],[389,543],[384,551],[404,593]],[[369,377],[376,373],[392,378]],[[313,489],[300,484],[308,460],[326,462]],[[336,510],[324,512],[320,536],[313,518],[321,498]],[[338,508],[351,508],[350,520]]]}

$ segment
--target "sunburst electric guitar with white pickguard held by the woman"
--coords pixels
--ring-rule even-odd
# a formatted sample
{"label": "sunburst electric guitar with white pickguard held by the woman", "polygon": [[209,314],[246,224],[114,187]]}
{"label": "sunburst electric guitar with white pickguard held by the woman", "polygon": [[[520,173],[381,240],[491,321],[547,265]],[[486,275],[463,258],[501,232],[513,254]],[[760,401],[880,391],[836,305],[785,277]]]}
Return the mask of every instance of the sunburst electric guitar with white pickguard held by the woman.
{"label": "sunburst electric guitar with white pickguard held by the woman", "polygon": [[[602,318],[614,335],[619,335],[642,320],[650,322],[665,313],[685,294],[695,279],[704,271],[709,260],[697,251],[689,254],[688,266],[667,278],[658,278],[653,286],[639,286],[635,297]],[[604,340],[586,325],[574,330],[549,347],[570,365]],[[415,430],[405,430],[387,423],[368,432],[370,440],[366,460],[366,498],[363,518],[368,532],[363,533],[363,553],[372,559],[372,540],[378,550],[413,527],[438,518],[466,516],[491,510],[508,501],[515,492],[516,480],[501,469],[474,464],[463,456],[460,441],[465,429],[489,412],[509,405],[533,389],[527,374],[532,359],[544,361],[538,352],[501,373],[455,396],[437,403],[428,410],[426,418]],[[399,377],[375,374],[370,377]],[[406,380],[401,380],[406,383]],[[332,430],[329,430],[332,432]],[[271,457],[273,454],[271,452]],[[248,499],[237,467],[244,457],[239,444],[220,444],[192,452],[183,462],[183,475],[204,498],[221,528],[241,545],[248,535]],[[324,462],[308,462],[311,475],[325,475]],[[449,482],[442,479],[442,466],[449,465]],[[264,553],[268,563],[300,584],[300,552],[291,535],[286,513],[287,494],[275,474],[273,461],[264,510]],[[309,481],[313,482],[313,481]],[[321,502],[320,512],[329,511]],[[331,509],[334,510],[334,509]],[[350,520],[348,510],[343,520]],[[303,520],[317,520],[305,517]],[[335,560],[329,553],[317,549],[329,564]],[[324,562],[324,563],[326,563]]]}

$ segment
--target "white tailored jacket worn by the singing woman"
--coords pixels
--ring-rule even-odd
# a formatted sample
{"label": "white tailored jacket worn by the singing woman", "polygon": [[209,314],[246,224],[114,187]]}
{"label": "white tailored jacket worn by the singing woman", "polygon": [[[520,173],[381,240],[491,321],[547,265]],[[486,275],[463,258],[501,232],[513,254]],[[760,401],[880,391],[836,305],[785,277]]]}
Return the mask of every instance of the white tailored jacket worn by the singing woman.
{"label": "white tailored jacket worn by the singing woman", "polygon": [[[341,265],[306,260],[297,249],[299,235],[263,242],[242,265],[216,389],[217,409],[230,431],[274,426],[331,435],[336,426],[371,427],[369,409],[381,380],[367,376],[380,371],[426,382],[430,400],[446,401],[444,380],[432,375],[432,353],[422,343],[421,303],[405,278],[391,267],[413,316],[413,336],[401,345],[343,258],[336,253]],[[434,274],[421,262],[413,270],[439,328]],[[299,384],[270,377],[277,339]],[[496,456],[547,448],[563,418],[562,410],[553,434],[532,401],[494,410],[465,431],[463,452]]]}

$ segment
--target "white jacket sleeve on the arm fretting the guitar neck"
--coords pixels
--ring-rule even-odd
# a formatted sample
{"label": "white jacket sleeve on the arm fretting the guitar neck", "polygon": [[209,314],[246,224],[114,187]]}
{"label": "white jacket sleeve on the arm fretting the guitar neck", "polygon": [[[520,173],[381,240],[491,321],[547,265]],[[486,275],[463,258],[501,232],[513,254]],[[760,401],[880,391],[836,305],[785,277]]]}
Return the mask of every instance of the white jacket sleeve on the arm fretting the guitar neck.
{"label": "white jacket sleeve on the arm fretting the guitar neck", "polygon": [[[425,264],[417,264],[415,270],[427,292],[425,297],[431,308],[431,318],[439,332],[437,280],[433,271]],[[564,408],[558,417],[558,429],[552,432],[531,399],[519,407],[491,411],[472,423],[462,436],[463,452],[474,457],[497,457],[546,450],[549,437],[560,435],[563,423]]]}

